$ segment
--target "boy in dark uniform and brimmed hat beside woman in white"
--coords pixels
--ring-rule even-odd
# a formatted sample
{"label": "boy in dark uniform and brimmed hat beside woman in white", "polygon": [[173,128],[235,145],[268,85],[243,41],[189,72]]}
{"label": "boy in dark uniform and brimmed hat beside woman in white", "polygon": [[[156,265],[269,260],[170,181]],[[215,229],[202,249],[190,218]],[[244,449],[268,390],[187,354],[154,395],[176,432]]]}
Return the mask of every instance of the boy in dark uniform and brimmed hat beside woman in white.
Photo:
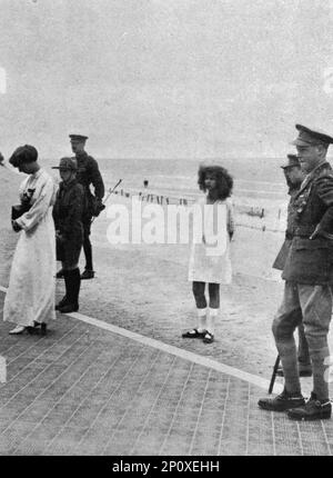
{"label": "boy in dark uniform and brimmed hat beside woman in white", "polygon": [[62,262],[65,296],[56,306],[62,313],[79,310],[81,286],[79,257],[83,242],[83,187],[77,180],[75,158],[61,158],[59,169],[62,181],[59,185],[53,207],[57,236],[57,259]]}

